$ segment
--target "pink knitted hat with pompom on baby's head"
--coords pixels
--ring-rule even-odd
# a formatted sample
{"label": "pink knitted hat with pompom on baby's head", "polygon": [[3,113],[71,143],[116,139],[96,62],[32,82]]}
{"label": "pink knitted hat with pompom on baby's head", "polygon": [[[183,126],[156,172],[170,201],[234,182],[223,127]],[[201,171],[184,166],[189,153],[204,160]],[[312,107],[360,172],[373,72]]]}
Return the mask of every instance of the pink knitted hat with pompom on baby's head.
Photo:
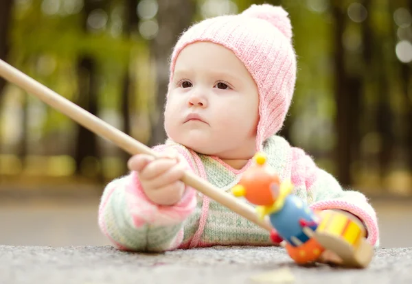
{"label": "pink knitted hat with pompom on baby's head", "polygon": [[258,86],[260,102],[257,151],[282,128],[296,80],[296,55],[288,13],[279,6],[251,5],[241,14],[217,16],[192,25],[176,43],[170,62],[170,82],[180,51],[197,41],[231,49]]}

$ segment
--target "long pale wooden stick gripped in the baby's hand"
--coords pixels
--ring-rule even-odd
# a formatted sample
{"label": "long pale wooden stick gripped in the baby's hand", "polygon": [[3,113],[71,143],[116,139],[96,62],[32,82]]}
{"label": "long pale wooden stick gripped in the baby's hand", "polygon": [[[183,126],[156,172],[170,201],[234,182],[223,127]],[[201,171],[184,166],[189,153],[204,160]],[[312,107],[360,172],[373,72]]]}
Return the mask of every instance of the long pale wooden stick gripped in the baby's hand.
{"label": "long pale wooden stick gripped in the baby's hand", "polygon": [[[140,143],[124,132],[102,121],[102,119],[95,117],[95,115],[92,115],[87,112],[87,110],[80,108],[80,106],[73,104],[73,102],[70,102],[65,97],[58,95],[58,93],[55,93],[43,84],[30,78],[25,73],[10,66],[10,64],[4,62],[3,60],[0,60],[0,75],[5,78],[5,80],[8,80],[9,82],[16,84],[16,86],[23,88],[27,91],[27,93],[36,95],[36,97],[49,106],[52,106],[61,113],[71,117],[71,119],[77,121],[95,134],[98,134],[100,137],[104,137],[105,139],[115,143],[115,145],[122,148],[129,154],[150,154],[155,156],[155,158],[159,158],[159,154],[150,149],[150,147]],[[190,187],[193,187],[194,189],[197,189],[201,193],[205,194],[205,196],[208,196],[209,198],[216,200],[216,202],[226,206],[231,211],[245,217],[247,220],[261,226],[266,230],[271,230],[271,225],[268,224],[268,222],[260,220],[252,206],[249,206],[238,200],[236,197],[231,196],[231,194],[214,187],[209,182],[196,176],[192,172],[186,171],[182,181],[185,182],[186,185],[189,185]]]}

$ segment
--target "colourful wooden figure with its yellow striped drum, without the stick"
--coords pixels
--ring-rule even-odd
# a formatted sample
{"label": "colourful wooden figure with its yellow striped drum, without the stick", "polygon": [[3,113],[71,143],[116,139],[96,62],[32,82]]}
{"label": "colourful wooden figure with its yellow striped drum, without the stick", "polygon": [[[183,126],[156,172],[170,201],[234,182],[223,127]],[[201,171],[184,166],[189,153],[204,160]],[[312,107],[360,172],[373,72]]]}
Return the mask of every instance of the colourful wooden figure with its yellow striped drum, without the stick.
{"label": "colourful wooden figure with its yellow striped drum, without the stick", "polygon": [[369,264],[373,248],[361,222],[349,213],[312,211],[292,193],[290,182],[279,181],[263,154],[256,154],[254,160],[232,193],[257,205],[261,220],[268,216],[272,240],[281,242],[296,263],[321,262],[322,252],[329,250],[339,257],[340,265],[364,268]]}

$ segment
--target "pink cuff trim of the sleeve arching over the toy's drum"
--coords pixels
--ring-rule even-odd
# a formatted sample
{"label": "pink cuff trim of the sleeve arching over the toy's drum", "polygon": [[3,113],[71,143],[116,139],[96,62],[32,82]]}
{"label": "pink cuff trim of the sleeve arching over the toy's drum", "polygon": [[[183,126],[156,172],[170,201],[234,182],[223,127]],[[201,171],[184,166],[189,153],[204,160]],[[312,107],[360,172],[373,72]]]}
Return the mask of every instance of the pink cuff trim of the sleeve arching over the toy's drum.
{"label": "pink cuff trim of the sleeve arching over the toy's drum", "polygon": [[350,202],[345,202],[343,200],[326,200],[312,204],[310,208],[313,210],[341,209],[348,211],[359,217],[359,219],[365,223],[368,234],[367,240],[372,246],[374,246],[379,239],[376,219],[359,206],[355,206],[350,204]]}

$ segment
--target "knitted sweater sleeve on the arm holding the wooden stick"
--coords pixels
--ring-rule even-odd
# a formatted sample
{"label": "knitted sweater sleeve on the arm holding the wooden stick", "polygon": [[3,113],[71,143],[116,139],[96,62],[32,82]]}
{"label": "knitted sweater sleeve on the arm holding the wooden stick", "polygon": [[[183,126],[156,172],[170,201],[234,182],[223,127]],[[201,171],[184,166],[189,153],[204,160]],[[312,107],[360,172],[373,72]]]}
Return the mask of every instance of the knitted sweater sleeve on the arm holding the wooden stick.
{"label": "knitted sweater sleeve on the arm holding the wooden stick", "polygon": [[[155,147],[161,152],[166,147]],[[191,168],[192,169],[192,168]],[[194,211],[196,194],[186,187],[183,198],[172,206],[151,202],[137,173],[116,178],[106,185],[100,201],[98,225],[119,250],[161,252],[173,250],[183,240],[183,224]]]}

